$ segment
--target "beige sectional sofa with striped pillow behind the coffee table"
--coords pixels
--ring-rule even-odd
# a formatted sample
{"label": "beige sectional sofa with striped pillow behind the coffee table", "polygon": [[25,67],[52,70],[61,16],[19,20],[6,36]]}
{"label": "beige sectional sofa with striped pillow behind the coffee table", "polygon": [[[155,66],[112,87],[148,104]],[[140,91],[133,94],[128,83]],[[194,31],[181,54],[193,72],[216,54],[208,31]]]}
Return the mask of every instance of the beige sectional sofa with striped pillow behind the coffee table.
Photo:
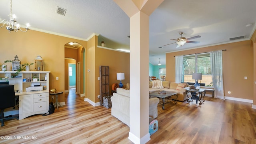
{"label": "beige sectional sofa with striped pillow behind the coffee table", "polygon": [[[154,82],[158,83],[158,85],[153,85]],[[175,92],[178,94],[177,100],[181,102],[188,99],[186,95],[185,87],[188,87],[187,83],[177,84],[175,82],[161,81],[161,80],[154,80],[149,82],[149,92],[154,92],[159,90]]]}

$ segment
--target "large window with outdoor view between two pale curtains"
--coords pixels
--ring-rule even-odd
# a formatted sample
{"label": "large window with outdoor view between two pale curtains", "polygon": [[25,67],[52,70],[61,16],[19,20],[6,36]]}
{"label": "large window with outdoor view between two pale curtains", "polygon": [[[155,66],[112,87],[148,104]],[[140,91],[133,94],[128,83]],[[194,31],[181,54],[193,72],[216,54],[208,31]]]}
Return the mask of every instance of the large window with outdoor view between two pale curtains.
{"label": "large window with outdoor view between two pale curtains", "polygon": [[202,80],[198,80],[198,83],[205,84],[205,86],[210,85],[212,82],[210,53],[183,56],[182,82],[194,83],[192,74],[196,72],[202,73]]}

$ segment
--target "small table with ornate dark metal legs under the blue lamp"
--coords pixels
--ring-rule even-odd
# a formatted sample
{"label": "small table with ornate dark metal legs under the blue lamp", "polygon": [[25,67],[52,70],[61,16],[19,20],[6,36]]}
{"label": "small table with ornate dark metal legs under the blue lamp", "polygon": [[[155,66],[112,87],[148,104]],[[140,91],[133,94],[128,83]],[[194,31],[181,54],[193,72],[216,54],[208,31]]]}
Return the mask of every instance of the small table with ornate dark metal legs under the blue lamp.
{"label": "small table with ornate dark metal legs under the blue lamp", "polygon": [[[196,104],[197,102],[199,101],[199,105],[201,105],[202,103],[204,103],[204,96],[205,96],[205,89],[201,88],[200,90],[190,90],[189,87],[185,88],[186,89],[186,94],[187,94],[187,97],[188,97],[188,100],[187,102],[191,102],[193,100],[196,100]],[[192,92],[195,92],[195,93],[198,93],[199,96],[191,96],[191,93]],[[188,93],[190,93],[190,96],[188,96]]]}

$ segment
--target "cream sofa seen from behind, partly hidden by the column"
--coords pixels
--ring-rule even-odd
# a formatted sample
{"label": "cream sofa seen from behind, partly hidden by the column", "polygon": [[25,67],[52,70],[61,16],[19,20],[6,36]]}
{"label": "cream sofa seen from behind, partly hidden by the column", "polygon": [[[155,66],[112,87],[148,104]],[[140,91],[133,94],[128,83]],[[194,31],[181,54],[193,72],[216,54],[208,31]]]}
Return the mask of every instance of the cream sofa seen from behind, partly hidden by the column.
{"label": "cream sofa seen from behind, partly hidden by the column", "polygon": [[[116,93],[111,96],[111,115],[130,126],[130,90],[117,88]],[[149,116],[156,118],[158,115],[158,98],[149,99]]]}

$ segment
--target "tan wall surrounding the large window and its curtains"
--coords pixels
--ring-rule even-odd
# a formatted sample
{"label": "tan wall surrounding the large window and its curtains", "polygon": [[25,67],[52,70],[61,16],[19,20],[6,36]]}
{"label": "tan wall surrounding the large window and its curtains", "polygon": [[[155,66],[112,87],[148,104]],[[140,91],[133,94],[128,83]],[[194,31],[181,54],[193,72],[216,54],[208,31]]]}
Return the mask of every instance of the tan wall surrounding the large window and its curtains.
{"label": "tan wall surrounding the large window and its curtains", "polygon": [[[254,55],[250,40],[209,46],[193,50],[172,52],[166,54],[166,80],[175,81],[175,58],[178,55],[223,51],[224,96],[253,99],[253,68]],[[244,80],[247,76],[247,80]],[[228,94],[231,91],[231,94]]]}

